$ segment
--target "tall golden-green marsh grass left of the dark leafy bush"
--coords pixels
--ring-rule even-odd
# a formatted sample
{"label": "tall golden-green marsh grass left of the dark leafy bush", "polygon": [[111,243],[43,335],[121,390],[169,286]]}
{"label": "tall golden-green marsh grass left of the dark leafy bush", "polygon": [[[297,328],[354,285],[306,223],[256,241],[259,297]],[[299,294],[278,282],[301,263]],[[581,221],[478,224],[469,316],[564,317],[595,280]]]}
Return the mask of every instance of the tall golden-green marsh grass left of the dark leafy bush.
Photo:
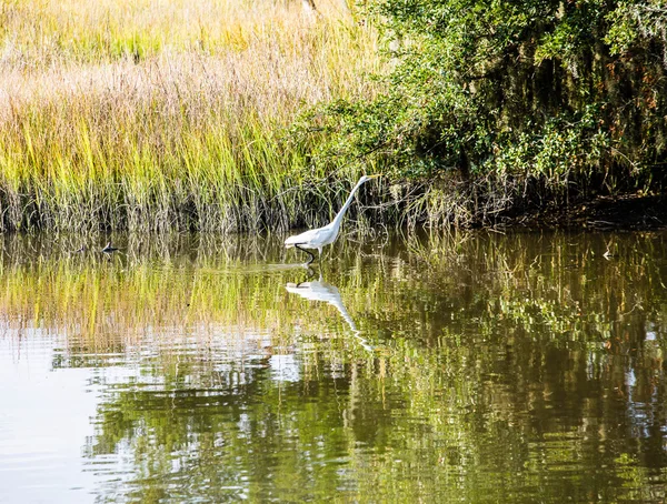
{"label": "tall golden-green marsh grass left of the dark leafy bush", "polygon": [[[297,6],[298,7],[298,6]],[[359,175],[289,125],[374,92],[342,4],[3,2],[0,226],[237,231],[321,223]],[[327,188],[322,188],[322,181]]]}

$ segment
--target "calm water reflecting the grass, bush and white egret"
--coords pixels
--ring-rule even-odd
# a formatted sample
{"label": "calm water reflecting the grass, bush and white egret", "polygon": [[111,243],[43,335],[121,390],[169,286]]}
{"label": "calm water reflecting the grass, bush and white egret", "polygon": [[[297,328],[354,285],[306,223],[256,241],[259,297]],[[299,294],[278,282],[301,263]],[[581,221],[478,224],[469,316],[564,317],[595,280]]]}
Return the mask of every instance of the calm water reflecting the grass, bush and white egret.
{"label": "calm water reflecting the grass, bush and white egret", "polygon": [[665,233],[113,238],[0,238],[0,502],[666,498]]}

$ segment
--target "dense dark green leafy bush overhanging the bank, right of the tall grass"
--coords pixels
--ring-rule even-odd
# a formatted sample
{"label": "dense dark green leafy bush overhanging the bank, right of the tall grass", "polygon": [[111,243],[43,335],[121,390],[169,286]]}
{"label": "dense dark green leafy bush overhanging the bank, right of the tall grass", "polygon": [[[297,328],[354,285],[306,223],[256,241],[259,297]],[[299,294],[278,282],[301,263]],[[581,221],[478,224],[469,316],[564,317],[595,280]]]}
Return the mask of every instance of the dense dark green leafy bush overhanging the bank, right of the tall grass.
{"label": "dense dark green leafy bush overhanging the bank, right of the tall grass", "polygon": [[329,134],[319,160],[474,192],[487,178],[476,198],[504,185],[508,206],[535,195],[526,184],[556,200],[636,188],[666,161],[666,13],[661,0],[371,1],[386,91],[312,115]]}

